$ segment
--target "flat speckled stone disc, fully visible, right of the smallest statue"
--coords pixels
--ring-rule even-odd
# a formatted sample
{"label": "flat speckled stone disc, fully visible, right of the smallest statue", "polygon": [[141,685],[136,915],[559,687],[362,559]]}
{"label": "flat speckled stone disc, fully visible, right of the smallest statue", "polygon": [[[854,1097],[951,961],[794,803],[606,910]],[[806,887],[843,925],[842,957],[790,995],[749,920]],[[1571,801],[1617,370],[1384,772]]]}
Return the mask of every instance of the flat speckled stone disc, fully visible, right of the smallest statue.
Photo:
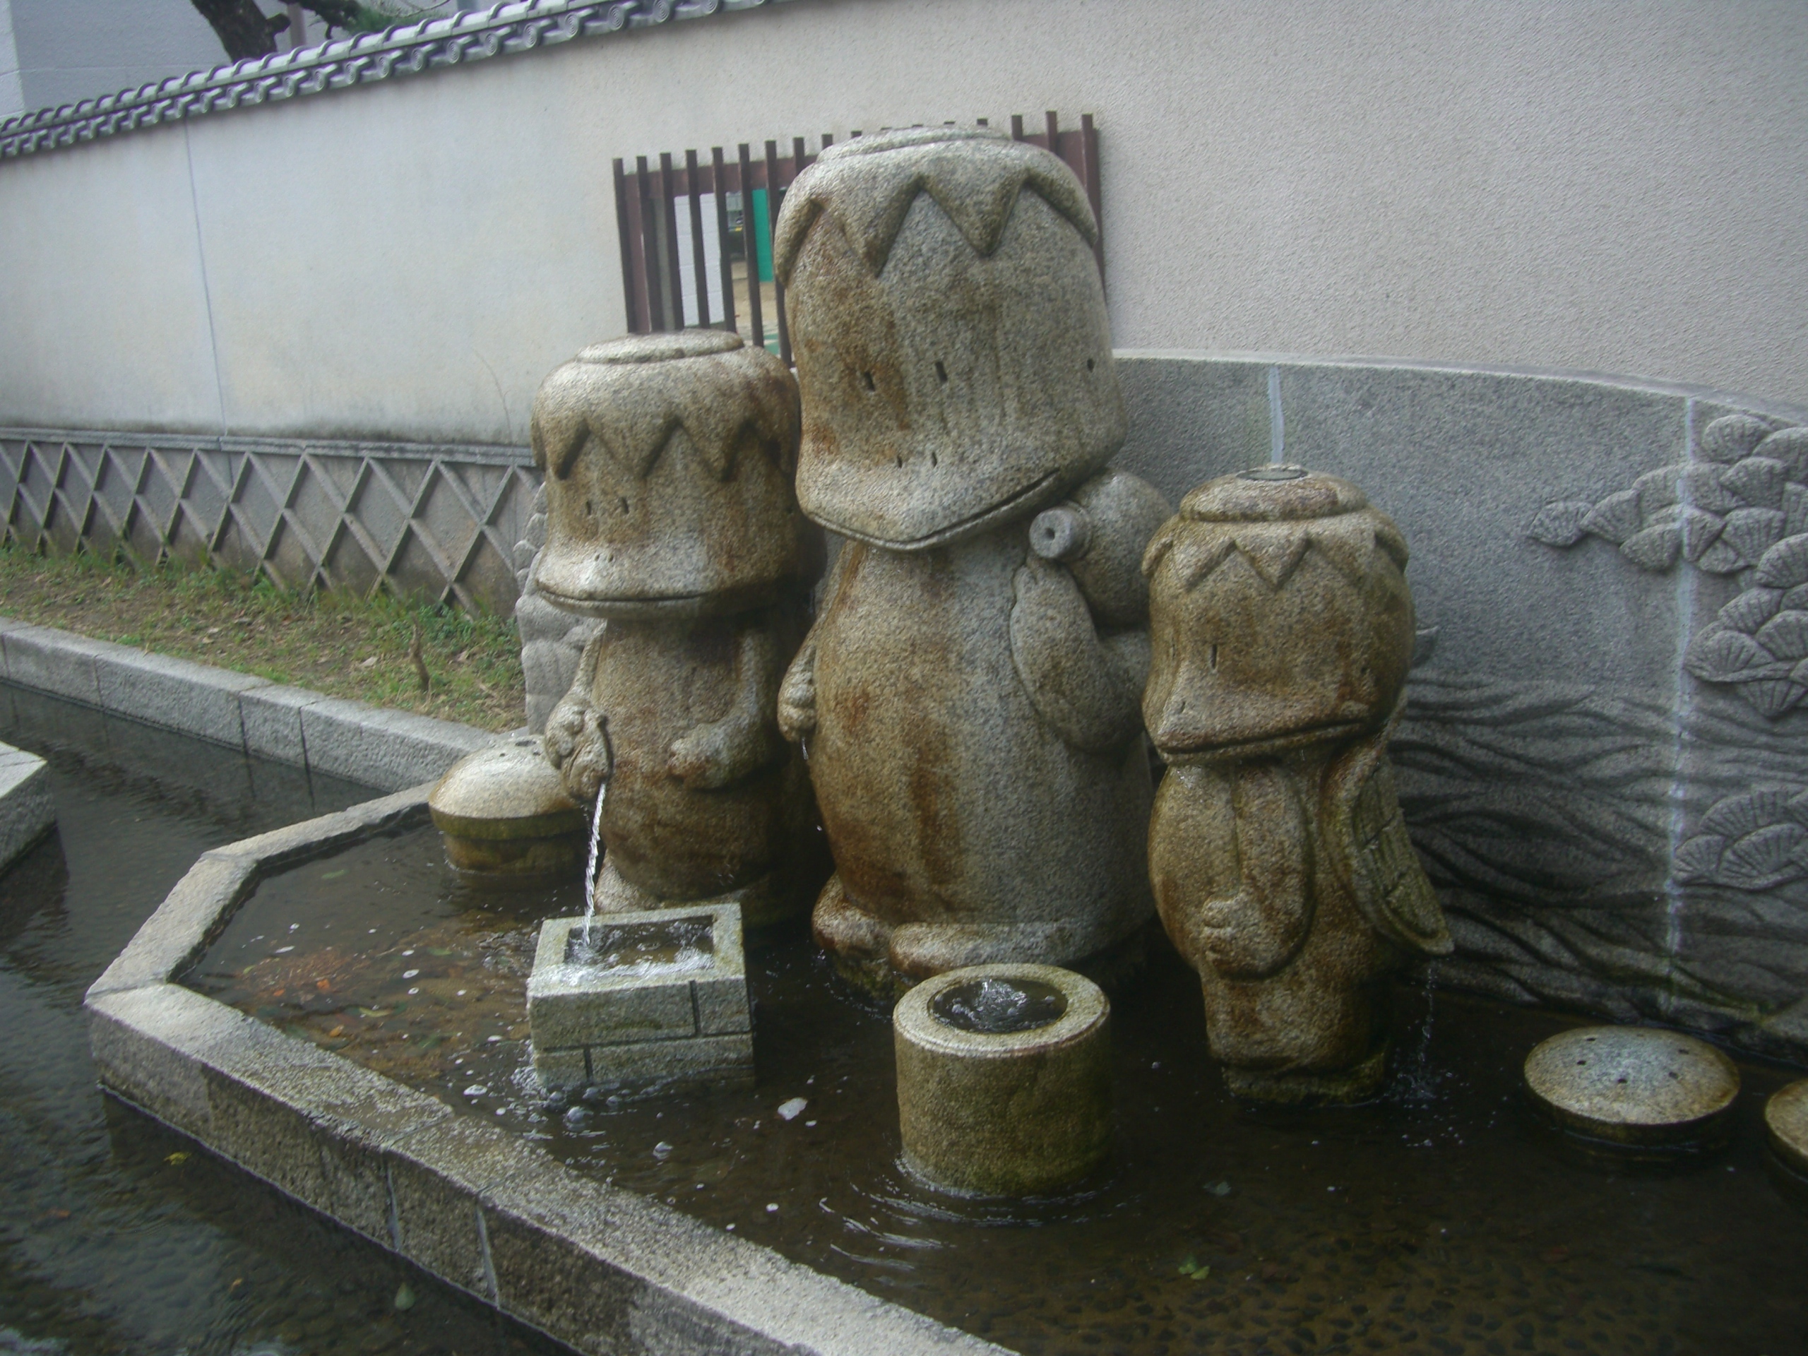
{"label": "flat speckled stone disc, fully visible, right of the smallest statue", "polygon": [[1557,1121],[1620,1144],[1710,1139],[1739,1070],[1707,1041],[1651,1027],[1578,1027],[1526,1056],[1526,1090]]}

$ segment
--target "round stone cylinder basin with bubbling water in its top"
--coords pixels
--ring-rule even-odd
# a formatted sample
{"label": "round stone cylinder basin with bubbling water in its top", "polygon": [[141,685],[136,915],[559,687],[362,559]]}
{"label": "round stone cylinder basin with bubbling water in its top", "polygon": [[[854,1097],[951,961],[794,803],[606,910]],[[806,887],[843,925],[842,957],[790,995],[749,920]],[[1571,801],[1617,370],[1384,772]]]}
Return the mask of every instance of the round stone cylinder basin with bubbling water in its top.
{"label": "round stone cylinder basin with bubbling water in its top", "polygon": [[904,1163],[965,1195],[1041,1195],[1112,1146],[1110,1003],[1054,965],[967,965],[891,1012]]}

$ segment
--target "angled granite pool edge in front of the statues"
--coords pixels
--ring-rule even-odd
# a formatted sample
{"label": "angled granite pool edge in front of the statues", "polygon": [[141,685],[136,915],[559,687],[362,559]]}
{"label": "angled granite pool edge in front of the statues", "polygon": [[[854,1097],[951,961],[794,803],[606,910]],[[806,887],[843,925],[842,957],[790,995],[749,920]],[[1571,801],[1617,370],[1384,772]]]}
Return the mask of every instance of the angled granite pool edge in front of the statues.
{"label": "angled granite pool edge in front of the statues", "polygon": [[1003,1351],[589,1181],[177,982],[260,879],[425,823],[414,786],[204,853],[89,989],[103,1087],[582,1352]]}

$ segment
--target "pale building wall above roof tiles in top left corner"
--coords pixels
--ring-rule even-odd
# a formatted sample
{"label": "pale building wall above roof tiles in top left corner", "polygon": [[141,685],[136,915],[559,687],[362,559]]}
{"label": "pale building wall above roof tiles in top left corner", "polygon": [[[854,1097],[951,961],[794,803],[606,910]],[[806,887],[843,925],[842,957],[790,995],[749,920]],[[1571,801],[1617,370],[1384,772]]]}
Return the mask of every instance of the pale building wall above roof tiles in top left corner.
{"label": "pale building wall above roof tiles in top left corner", "polygon": [[25,108],[56,108],[226,65],[221,40],[188,0],[9,4]]}

